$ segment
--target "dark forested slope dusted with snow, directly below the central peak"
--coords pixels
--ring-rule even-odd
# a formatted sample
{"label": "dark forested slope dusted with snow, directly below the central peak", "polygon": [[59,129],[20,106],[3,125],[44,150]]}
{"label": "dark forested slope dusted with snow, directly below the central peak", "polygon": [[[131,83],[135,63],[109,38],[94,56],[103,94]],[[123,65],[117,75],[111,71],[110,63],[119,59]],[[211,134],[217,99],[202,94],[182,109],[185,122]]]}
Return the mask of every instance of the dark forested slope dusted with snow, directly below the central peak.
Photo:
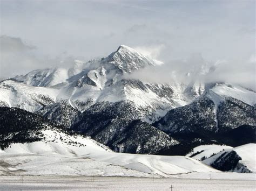
{"label": "dark forested slope dusted with snow, directly below the central peak", "polygon": [[166,133],[142,122],[140,116],[132,102],[102,102],[84,111],[71,129],[117,152],[154,153],[177,143]]}

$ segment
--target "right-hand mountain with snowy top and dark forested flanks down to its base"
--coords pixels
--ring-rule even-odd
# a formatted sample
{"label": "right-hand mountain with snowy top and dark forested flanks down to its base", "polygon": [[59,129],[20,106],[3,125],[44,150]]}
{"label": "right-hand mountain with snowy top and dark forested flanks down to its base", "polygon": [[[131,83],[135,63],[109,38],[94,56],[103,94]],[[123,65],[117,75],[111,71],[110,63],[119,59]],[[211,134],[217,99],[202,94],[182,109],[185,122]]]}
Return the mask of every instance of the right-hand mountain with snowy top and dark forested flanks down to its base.
{"label": "right-hand mountain with snowy top and dark forested flanks down to its base", "polygon": [[154,123],[180,144],[158,154],[186,154],[203,144],[239,146],[256,142],[255,93],[237,85],[212,84],[184,107]]}

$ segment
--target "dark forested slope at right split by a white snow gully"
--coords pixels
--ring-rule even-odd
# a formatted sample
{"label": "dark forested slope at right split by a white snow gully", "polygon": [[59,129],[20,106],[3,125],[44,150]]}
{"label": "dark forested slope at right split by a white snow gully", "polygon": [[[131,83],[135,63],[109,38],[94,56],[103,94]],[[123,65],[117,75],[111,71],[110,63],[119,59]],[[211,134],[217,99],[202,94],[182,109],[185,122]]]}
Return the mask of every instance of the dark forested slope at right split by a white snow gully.
{"label": "dark forested slope at right split by a white snow gully", "polygon": [[166,133],[197,133],[210,137],[243,124],[255,125],[253,110],[251,105],[231,97],[216,105],[206,95],[184,107],[170,110],[154,125]]}

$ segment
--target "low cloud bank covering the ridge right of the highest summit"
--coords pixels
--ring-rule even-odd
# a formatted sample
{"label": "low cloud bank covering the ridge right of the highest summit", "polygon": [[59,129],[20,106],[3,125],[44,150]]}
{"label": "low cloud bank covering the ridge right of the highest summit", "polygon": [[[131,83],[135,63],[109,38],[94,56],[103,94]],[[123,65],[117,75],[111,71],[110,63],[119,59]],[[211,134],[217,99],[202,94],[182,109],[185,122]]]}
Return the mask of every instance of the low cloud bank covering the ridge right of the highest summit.
{"label": "low cloud bank covering the ridge right of the highest summit", "polygon": [[149,83],[190,84],[193,82],[226,82],[256,90],[256,61],[253,56],[247,60],[206,61],[200,54],[188,59],[173,60],[163,65],[146,67],[126,74],[126,79],[137,79]]}

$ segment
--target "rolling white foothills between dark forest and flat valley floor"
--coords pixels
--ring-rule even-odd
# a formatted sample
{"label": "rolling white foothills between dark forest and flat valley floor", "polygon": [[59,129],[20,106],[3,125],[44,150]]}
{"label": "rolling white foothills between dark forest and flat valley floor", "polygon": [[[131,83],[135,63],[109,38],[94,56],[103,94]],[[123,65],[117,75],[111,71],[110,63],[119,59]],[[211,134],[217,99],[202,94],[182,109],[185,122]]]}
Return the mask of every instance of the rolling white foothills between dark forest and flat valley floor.
{"label": "rolling white foothills between dark forest and flat valley floor", "polygon": [[[45,140],[12,144],[1,151],[1,174],[170,176],[218,172],[187,157],[113,153],[90,138],[44,130]],[[3,165],[4,164],[4,165]]]}

